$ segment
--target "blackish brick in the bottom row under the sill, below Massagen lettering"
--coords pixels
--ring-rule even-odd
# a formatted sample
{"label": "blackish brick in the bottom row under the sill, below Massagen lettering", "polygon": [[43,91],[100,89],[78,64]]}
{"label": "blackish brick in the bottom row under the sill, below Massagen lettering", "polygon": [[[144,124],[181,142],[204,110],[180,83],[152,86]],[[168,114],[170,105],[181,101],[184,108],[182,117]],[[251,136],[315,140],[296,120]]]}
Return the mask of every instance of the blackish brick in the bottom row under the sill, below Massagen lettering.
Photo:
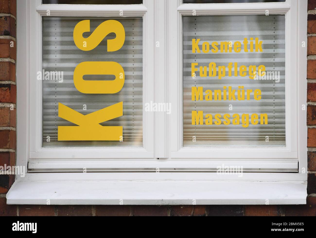
{"label": "blackish brick in the bottom row under the sill, below Massagen lettering", "polygon": [[207,216],[243,216],[242,205],[210,205],[206,207]]}

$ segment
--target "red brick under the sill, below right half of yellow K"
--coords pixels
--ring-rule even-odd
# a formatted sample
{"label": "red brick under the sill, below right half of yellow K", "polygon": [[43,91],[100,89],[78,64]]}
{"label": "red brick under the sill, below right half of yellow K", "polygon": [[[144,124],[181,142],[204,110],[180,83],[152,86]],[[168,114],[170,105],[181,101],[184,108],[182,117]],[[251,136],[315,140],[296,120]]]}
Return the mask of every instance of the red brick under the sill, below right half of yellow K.
{"label": "red brick under the sill, below right half of yellow K", "polygon": [[128,217],[131,215],[131,207],[125,205],[95,206],[96,216]]}

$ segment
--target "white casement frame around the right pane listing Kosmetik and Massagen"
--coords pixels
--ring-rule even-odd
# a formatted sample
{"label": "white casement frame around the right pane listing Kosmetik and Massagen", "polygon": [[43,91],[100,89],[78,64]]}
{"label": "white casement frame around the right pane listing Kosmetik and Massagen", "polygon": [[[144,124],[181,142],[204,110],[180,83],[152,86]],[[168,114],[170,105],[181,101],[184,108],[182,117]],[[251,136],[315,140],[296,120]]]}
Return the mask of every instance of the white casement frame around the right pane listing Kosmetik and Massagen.
{"label": "white casement frame around the right pane listing Kosmetik and Massagen", "polygon": [[[299,125],[306,125],[305,112],[301,110],[301,105],[306,104],[305,87],[306,82],[301,79],[304,75],[304,67],[301,71],[297,70],[299,63],[303,63],[304,58],[297,58],[299,51],[291,49],[298,49],[298,39],[295,37],[298,34],[298,14],[299,8],[297,1],[287,0],[284,3],[245,3],[245,4],[181,4],[178,1],[176,5],[173,1],[170,2],[172,12],[175,9],[178,15],[170,14],[170,27],[178,29],[177,41],[171,41],[169,62],[178,62],[177,70],[171,72],[171,78],[177,78],[178,81],[169,80],[169,96],[172,105],[177,105],[177,113],[171,114],[169,130],[170,141],[170,157],[172,158],[186,158],[186,159],[218,159],[222,160],[231,158],[231,162],[240,160],[238,165],[243,165],[244,168],[256,168],[257,163],[260,164],[260,169],[277,169],[280,164],[288,164],[288,169],[297,169],[298,160],[300,162],[301,170],[306,168],[305,154],[299,152],[306,152],[306,128],[301,129]],[[285,14],[285,41],[286,41],[286,93],[285,93],[285,106],[286,106],[286,146],[285,147],[262,147],[262,146],[228,146],[223,147],[182,147],[182,90],[175,91],[174,88],[182,89],[182,16],[192,15],[192,11],[196,10],[196,15],[264,15],[266,10],[269,14]],[[177,25],[176,25],[177,23]],[[306,34],[305,34],[306,35]],[[304,36],[304,35],[302,35]],[[172,37],[172,36],[170,36]],[[176,37],[176,36],[174,36]],[[302,42],[300,40],[300,42]],[[306,41],[305,41],[306,42]],[[304,51],[304,48],[301,48]],[[306,58],[306,55],[304,56]],[[299,89],[299,90],[297,90]],[[302,90],[300,90],[302,89]],[[291,96],[289,96],[291,95]],[[300,100],[299,100],[300,99]],[[293,106],[293,105],[296,105]],[[303,115],[303,117],[300,117]],[[298,118],[298,119],[297,119]],[[297,121],[296,121],[297,119]],[[300,155],[300,156],[299,156]],[[255,159],[250,162],[244,160]],[[234,164],[235,164],[234,163]],[[252,165],[252,163],[254,163]]]}

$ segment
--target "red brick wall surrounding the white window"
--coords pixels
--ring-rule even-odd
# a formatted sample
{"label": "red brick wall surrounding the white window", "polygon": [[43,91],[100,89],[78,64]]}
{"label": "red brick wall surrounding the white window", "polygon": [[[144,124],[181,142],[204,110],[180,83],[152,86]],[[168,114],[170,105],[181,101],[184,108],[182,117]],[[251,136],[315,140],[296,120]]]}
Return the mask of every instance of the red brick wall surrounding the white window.
{"label": "red brick wall surrounding the white window", "polygon": [[[16,0],[0,0],[0,165],[15,164]],[[13,176],[0,175],[0,216],[316,216],[316,0],[308,1],[306,205],[44,206],[6,205]],[[14,47],[10,47],[10,44]],[[306,80],[301,78],[301,80]],[[17,85],[19,86],[19,85]],[[14,110],[12,109],[12,105]]]}

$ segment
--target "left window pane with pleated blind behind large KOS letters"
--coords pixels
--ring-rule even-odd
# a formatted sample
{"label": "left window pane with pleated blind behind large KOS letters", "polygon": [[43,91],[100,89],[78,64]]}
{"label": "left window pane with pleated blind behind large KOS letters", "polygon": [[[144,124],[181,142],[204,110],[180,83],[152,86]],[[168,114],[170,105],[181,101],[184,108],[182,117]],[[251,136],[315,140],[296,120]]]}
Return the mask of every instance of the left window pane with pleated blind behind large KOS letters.
{"label": "left window pane with pleated blind behind large KOS letters", "polygon": [[[91,29],[90,32],[83,33],[84,38],[89,37],[102,22],[110,20],[108,18],[86,19],[90,20]],[[84,51],[76,46],[73,32],[76,24],[85,19],[75,17],[43,18],[43,71],[63,73],[63,80],[53,78],[54,80],[42,81],[43,147],[143,145],[143,19],[128,17],[111,19],[119,21],[125,30],[123,46],[113,52],[107,52],[107,40],[116,38],[115,33],[108,34],[94,49]],[[84,41],[83,44],[85,44]],[[86,44],[89,44],[89,41]],[[119,63],[125,74],[123,88],[114,94],[79,92],[74,85],[74,70],[79,63],[86,61]],[[84,81],[114,80],[115,76],[106,75],[105,73],[104,75],[84,75],[83,79]],[[58,103],[87,115],[119,102],[123,102],[123,116],[108,121],[104,119],[105,122],[100,122],[100,125],[123,126],[123,142],[58,141],[58,126],[77,125],[58,117]],[[104,117],[107,118],[108,115],[105,114]],[[103,119],[103,116],[101,119]],[[96,125],[92,122],[92,119],[90,120],[92,125]]]}

